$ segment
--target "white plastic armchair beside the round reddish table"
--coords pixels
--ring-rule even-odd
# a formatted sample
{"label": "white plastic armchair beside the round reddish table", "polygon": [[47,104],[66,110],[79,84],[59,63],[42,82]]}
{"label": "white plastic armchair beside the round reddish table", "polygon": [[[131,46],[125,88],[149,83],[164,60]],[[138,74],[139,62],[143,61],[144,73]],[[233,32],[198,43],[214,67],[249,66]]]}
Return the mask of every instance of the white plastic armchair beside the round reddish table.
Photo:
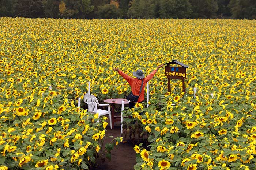
{"label": "white plastic armchair beside the round reddish table", "polygon": [[[111,120],[111,111],[110,111],[110,106],[109,104],[99,104],[97,98],[89,93],[86,93],[83,96],[84,102],[88,104],[88,111],[90,113],[96,114],[98,113],[99,116],[101,115],[109,115],[109,121],[110,121],[110,128],[112,129],[112,120]],[[102,109],[98,109],[97,106],[108,106],[108,110],[102,110]],[[98,118],[99,118],[98,116]]]}

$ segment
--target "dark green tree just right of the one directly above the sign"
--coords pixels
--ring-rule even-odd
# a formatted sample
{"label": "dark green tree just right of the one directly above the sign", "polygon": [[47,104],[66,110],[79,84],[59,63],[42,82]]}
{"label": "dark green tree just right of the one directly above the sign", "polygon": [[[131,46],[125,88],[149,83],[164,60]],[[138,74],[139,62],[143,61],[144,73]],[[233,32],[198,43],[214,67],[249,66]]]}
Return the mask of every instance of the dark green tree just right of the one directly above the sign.
{"label": "dark green tree just right of the one directly above the sign", "polygon": [[192,6],[192,18],[216,18],[218,4],[216,0],[189,0]]}

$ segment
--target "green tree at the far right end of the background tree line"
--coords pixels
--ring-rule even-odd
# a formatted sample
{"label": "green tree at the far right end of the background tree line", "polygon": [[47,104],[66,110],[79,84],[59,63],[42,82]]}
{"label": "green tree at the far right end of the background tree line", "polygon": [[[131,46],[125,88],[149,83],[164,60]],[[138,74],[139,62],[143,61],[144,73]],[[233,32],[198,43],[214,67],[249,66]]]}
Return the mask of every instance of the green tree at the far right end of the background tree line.
{"label": "green tree at the far right end of the background tree line", "polygon": [[233,19],[256,19],[255,0],[230,0],[229,8]]}

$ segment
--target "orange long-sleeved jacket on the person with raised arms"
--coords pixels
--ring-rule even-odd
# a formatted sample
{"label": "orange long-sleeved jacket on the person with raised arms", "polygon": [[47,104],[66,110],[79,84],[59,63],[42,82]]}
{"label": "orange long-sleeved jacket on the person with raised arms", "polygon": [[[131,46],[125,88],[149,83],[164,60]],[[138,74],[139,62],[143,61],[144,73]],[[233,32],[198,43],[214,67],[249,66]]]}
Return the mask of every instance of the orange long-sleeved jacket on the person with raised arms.
{"label": "orange long-sleeved jacket on the person with raised arms", "polygon": [[[138,102],[142,102],[144,100],[144,94],[145,94],[144,88],[145,88],[147,82],[153,78],[153,76],[155,75],[156,72],[157,72],[157,70],[154,70],[149,75],[147,75],[144,79],[137,79],[137,78],[132,78],[131,76],[128,76],[121,70],[118,71],[118,73],[130,84],[130,86],[132,88],[132,93],[136,96],[138,96],[140,94]],[[142,84],[142,80],[143,80],[143,86],[142,86],[142,90],[140,93],[140,86]]]}

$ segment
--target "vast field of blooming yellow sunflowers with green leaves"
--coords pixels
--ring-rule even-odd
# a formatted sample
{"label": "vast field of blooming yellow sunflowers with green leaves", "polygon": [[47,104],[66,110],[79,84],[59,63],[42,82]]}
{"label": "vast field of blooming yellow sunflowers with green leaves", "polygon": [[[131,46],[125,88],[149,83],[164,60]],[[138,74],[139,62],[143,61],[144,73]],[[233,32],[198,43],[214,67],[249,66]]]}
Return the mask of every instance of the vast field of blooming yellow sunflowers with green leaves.
{"label": "vast field of blooming yellow sunflowers with green leaves", "polygon": [[[159,69],[150,100],[125,110],[148,135],[134,166],[161,170],[250,170],[256,166],[256,21],[0,18],[0,170],[89,169],[106,117],[78,107],[88,90],[100,102],[124,98],[113,68],[147,75],[177,59],[182,82]],[[197,91],[194,92],[196,87]],[[83,106],[82,106],[83,107]],[[111,149],[122,141],[113,139]]]}

